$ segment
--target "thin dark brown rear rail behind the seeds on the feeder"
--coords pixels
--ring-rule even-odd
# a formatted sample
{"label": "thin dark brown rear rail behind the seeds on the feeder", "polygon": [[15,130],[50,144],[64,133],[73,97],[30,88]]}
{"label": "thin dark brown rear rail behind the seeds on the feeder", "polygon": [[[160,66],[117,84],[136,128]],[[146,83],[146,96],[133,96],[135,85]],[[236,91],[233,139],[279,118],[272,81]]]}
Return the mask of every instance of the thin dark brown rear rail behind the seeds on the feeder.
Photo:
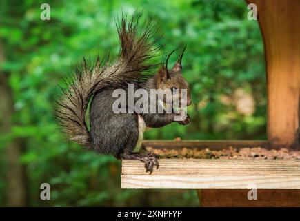
{"label": "thin dark brown rear rail behind the seeds on the feeder", "polygon": [[143,147],[152,148],[167,148],[167,149],[179,149],[179,148],[210,148],[212,150],[220,150],[233,146],[234,148],[243,147],[257,147],[268,148],[268,142],[266,140],[144,140]]}

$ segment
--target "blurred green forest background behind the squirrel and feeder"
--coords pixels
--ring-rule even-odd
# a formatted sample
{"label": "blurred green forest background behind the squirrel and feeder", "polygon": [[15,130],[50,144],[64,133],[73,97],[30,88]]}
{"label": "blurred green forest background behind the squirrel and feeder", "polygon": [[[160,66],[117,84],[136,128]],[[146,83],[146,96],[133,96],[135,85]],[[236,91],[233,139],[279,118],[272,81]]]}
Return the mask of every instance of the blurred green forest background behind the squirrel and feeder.
{"label": "blurred green forest background behind the squirrel and feeder", "polygon": [[[41,3],[50,21],[41,21]],[[121,189],[121,162],[66,141],[52,115],[61,77],[83,55],[119,50],[114,20],[143,10],[162,56],[188,44],[192,124],[147,139],[266,139],[263,42],[243,0],[0,1],[0,205],[198,206],[194,190]],[[176,56],[171,58],[174,62]],[[51,200],[40,199],[40,185]]]}

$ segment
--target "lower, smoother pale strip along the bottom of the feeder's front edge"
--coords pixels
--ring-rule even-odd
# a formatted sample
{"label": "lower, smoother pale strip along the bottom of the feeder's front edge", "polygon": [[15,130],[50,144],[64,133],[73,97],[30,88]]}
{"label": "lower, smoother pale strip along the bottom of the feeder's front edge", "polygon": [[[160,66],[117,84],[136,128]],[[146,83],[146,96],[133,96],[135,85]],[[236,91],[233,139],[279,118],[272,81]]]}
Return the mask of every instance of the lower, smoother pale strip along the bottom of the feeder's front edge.
{"label": "lower, smoother pale strip along the bottom of the feeder's front edge", "polygon": [[121,188],[300,189],[294,175],[122,175]]}

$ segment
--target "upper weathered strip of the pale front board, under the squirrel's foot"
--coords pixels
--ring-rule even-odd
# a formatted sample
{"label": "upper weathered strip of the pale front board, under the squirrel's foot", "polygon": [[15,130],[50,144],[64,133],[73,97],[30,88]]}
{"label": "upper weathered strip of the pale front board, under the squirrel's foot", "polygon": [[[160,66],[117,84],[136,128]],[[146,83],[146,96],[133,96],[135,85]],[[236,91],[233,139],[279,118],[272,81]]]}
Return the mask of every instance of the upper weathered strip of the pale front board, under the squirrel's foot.
{"label": "upper weathered strip of the pale front board, under the squirrel's foot", "polygon": [[[123,175],[147,175],[143,163],[122,161]],[[300,176],[300,160],[161,159],[153,175],[294,175]],[[148,175],[149,177],[149,175]]]}

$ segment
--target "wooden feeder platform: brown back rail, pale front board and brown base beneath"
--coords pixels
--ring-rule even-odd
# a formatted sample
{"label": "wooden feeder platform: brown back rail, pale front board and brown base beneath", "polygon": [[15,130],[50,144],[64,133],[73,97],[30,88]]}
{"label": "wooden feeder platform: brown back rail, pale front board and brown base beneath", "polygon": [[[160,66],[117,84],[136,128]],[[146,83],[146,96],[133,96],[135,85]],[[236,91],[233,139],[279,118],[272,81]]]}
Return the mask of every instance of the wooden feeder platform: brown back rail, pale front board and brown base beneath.
{"label": "wooden feeder platform: brown back rail, pale front board and brown base beneath", "polygon": [[[145,140],[143,147],[221,150],[233,146],[270,149],[267,141]],[[121,187],[131,189],[197,189],[201,206],[300,206],[300,160],[160,159],[146,173],[142,162],[123,160]],[[257,200],[249,200],[257,188]]]}

